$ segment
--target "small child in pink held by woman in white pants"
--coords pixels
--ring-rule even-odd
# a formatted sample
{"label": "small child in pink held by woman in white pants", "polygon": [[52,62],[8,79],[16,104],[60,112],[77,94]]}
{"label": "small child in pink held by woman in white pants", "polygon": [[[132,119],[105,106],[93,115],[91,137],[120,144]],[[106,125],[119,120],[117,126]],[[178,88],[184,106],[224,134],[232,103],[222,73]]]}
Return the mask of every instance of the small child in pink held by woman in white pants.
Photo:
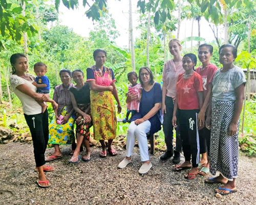
{"label": "small child in pink held by woman in white pants", "polygon": [[[138,81],[138,75],[135,71],[129,72],[127,74],[128,81],[131,83],[128,87],[128,93],[129,94],[134,94],[138,98],[128,102],[127,103],[127,113],[126,117],[123,119],[123,123],[125,122],[131,122],[129,118],[130,113],[132,113],[132,116],[136,113],[139,112],[139,107],[140,107],[140,99],[141,99],[141,93],[142,93],[142,87],[140,83],[137,83]],[[127,94],[128,94],[127,93]]]}

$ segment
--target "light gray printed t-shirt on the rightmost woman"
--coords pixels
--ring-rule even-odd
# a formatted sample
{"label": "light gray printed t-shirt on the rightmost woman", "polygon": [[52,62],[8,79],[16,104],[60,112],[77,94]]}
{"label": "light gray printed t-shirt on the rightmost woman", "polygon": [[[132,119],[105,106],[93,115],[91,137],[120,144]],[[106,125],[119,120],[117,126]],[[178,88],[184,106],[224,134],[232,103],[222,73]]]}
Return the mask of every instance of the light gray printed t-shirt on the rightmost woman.
{"label": "light gray printed t-shirt on the rightmost woman", "polygon": [[237,66],[226,72],[217,70],[212,80],[212,99],[236,101],[236,88],[246,83],[243,70]]}

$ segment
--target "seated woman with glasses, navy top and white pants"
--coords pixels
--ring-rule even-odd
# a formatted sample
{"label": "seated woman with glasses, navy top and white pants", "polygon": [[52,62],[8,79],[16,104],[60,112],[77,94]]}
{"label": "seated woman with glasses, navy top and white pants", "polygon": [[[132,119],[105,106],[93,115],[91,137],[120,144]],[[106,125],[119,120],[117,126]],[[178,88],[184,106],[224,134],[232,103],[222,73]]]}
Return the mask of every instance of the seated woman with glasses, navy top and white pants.
{"label": "seated woman with glasses, navy top and white pants", "polygon": [[[140,159],[142,166],[139,169],[140,174],[147,173],[152,163],[148,155],[147,133],[154,134],[161,130],[159,119],[159,110],[162,106],[162,90],[159,83],[154,82],[153,73],[148,67],[141,67],[139,70],[139,81],[142,85],[142,96],[139,112],[133,115],[131,124],[126,137],[126,157],[119,163],[120,169],[125,168],[132,162],[133,148],[137,138]],[[126,102],[135,100],[137,95],[127,95]]]}

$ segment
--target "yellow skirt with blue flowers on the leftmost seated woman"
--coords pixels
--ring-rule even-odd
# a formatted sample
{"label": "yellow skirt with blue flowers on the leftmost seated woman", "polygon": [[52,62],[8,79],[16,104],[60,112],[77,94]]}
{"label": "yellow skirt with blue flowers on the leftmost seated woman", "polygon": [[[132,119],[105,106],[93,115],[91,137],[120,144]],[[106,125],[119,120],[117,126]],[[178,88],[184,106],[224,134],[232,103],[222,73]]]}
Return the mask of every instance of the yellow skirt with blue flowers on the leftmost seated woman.
{"label": "yellow skirt with blue flowers on the leftmost seated woman", "polygon": [[[66,107],[62,110],[61,115],[67,114]],[[71,115],[68,122],[65,124],[57,124],[54,118],[49,124],[49,140],[48,147],[53,147],[53,144],[67,145],[72,144],[75,140],[74,137],[74,122],[75,115]]]}

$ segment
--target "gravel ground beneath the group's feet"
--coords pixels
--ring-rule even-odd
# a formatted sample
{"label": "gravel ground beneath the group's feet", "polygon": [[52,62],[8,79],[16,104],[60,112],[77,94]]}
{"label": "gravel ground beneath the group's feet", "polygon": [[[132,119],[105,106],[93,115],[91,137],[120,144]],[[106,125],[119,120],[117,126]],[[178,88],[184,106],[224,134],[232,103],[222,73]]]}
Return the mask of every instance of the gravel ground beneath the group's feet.
{"label": "gravel ground beneath the group's feet", "polygon": [[[215,197],[218,185],[204,184],[203,176],[185,180],[182,172],[173,172],[170,161],[161,162],[161,152],[151,156],[153,169],[138,173],[140,158],[135,148],[133,163],[120,170],[118,163],[124,150],[116,157],[99,158],[93,147],[92,161],[69,164],[70,147],[62,146],[63,158],[50,164],[47,173],[52,183],[48,189],[38,188],[35,181],[32,144],[0,144],[0,204],[255,204],[256,161],[240,157],[238,193]],[[49,155],[53,149],[47,149]],[[244,174],[243,174],[244,173]]]}

